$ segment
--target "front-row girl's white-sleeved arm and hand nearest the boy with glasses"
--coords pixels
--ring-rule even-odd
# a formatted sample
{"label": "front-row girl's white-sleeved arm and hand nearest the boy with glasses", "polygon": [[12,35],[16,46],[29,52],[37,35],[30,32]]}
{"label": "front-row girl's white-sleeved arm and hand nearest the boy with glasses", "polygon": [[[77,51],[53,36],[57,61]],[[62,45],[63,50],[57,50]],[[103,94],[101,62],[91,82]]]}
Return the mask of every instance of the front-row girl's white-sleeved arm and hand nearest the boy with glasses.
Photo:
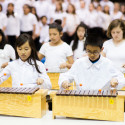
{"label": "front-row girl's white-sleeved arm and hand nearest the boy with glasses", "polygon": [[52,85],[49,79],[49,76],[46,73],[46,69],[44,67],[44,64],[40,62],[39,70],[41,73],[39,73],[39,78],[37,79],[37,84],[42,84],[43,88],[45,89],[51,89]]}

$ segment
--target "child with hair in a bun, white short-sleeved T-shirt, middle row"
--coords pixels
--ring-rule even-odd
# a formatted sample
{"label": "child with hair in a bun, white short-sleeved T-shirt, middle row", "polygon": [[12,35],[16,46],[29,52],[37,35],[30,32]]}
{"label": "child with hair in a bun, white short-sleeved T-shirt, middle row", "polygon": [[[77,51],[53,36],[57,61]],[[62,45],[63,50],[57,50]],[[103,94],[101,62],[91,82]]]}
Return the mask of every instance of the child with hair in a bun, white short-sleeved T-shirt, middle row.
{"label": "child with hair in a bun, white short-sleeved T-shirt, middle row", "polygon": [[61,40],[61,36],[61,25],[50,24],[49,38],[51,41],[43,44],[39,51],[39,59],[46,58],[45,67],[49,72],[60,72],[60,69],[70,68],[73,63],[72,50],[67,43]]}

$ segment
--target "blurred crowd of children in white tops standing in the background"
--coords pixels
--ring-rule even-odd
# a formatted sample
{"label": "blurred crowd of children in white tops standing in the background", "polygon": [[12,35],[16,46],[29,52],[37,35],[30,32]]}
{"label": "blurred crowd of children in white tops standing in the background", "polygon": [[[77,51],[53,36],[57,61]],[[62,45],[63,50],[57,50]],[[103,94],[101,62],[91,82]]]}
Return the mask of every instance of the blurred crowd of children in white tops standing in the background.
{"label": "blurred crowd of children in white tops standing in the background", "polygon": [[[76,27],[80,22],[84,22],[90,28],[101,27],[107,30],[111,20],[124,17],[122,12],[119,11],[119,3],[114,3],[113,9],[110,9],[112,8],[110,4],[104,4],[105,0],[104,3],[100,2],[102,6],[97,1],[94,1],[93,4],[89,1],[89,4],[87,4],[86,0],[80,0],[76,2],[77,4],[74,4],[75,1],[73,3],[69,0],[64,2],[66,4],[65,7],[61,0],[53,0],[51,2],[53,6],[50,6],[48,1],[45,0],[34,1],[33,4],[29,4],[29,1],[22,1],[21,4],[20,1],[22,11],[20,13],[15,10],[16,2],[7,1],[6,9],[4,9],[4,2],[1,2],[2,5],[0,6],[0,28],[5,31],[9,44],[13,47],[20,33],[28,33],[35,39],[36,48],[39,50],[41,43],[48,42],[49,39],[49,26],[47,24],[53,23],[57,19],[62,21],[63,41],[70,44],[74,38]],[[88,6],[87,8],[86,5]],[[96,9],[94,6],[96,6]],[[2,13],[2,8],[5,13]],[[102,12],[103,8],[104,12]],[[65,10],[67,11],[65,12]],[[114,10],[114,12],[111,10]],[[51,14],[49,14],[50,12]]]}

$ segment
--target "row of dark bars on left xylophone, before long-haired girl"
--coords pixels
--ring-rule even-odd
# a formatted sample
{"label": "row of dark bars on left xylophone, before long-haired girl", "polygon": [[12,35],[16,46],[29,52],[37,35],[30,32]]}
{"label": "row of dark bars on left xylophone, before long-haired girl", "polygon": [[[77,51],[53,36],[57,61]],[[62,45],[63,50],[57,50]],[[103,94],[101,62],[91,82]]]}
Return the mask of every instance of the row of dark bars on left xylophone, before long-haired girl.
{"label": "row of dark bars on left xylophone, before long-haired girl", "polygon": [[34,87],[34,88],[1,87],[0,88],[0,93],[7,93],[7,94],[34,94],[37,90],[39,90],[38,87]]}

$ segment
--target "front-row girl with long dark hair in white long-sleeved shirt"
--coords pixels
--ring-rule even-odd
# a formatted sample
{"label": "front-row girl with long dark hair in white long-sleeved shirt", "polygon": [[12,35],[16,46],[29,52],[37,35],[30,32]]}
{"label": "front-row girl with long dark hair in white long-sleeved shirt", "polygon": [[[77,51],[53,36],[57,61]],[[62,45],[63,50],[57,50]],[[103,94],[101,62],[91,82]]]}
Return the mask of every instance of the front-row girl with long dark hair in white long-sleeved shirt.
{"label": "front-row girl with long dark hair in white long-sleeved shirt", "polygon": [[[43,85],[50,89],[50,79],[42,62],[36,60],[37,53],[32,37],[22,34],[16,41],[16,60],[10,62],[0,73],[0,83],[12,76],[12,87],[35,87]],[[6,75],[4,75],[6,74]]]}

